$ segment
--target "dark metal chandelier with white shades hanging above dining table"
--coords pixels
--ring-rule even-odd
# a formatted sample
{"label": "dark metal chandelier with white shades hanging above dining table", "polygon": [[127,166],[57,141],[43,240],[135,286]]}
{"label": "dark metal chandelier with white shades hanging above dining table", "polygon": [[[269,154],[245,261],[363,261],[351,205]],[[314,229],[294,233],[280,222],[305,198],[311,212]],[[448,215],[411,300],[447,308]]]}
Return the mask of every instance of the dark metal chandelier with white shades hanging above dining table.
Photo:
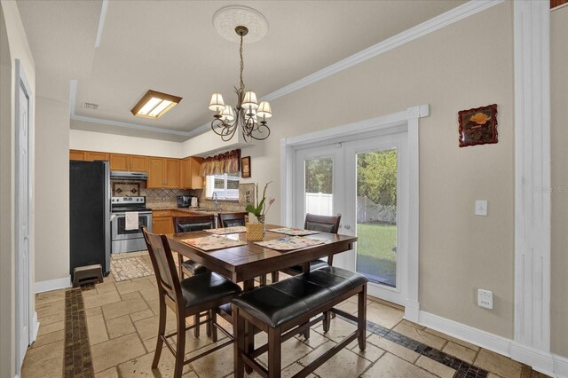
{"label": "dark metal chandelier with white shades hanging above dining table", "polygon": [[266,124],[266,120],[272,117],[272,110],[268,101],[262,101],[260,104],[256,101],[256,93],[254,91],[245,91],[245,83],[242,81],[242,70],[244,67],[242,61],[242,39],[248,34],[248,28],[238,26],[234,29],[237,35],[241,36],[241,83],[239,88],[234,87],[237,94],[237,106],[233,110],[233,106],[225,105],[223,96],[220,93],[214,93],[211,96],[209,109],[214,111],[211,129],[223,139],[228,141],[233,138],[236,130],[241,125],[242,137],[245,142],[251,139],[264,140],[270,135],[270,129]]}

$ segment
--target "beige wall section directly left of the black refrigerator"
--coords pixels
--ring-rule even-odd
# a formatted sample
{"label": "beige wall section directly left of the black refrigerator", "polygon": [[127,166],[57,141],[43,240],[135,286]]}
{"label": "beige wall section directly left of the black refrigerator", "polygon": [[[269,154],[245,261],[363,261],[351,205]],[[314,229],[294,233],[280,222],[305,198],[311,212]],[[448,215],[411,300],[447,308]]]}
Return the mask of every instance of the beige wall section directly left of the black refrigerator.
{"label": "beige wall section directly left of the black refrigerator", "polygon": [[36,282],[69,277],[68,135],[68,103],[36,97]]}

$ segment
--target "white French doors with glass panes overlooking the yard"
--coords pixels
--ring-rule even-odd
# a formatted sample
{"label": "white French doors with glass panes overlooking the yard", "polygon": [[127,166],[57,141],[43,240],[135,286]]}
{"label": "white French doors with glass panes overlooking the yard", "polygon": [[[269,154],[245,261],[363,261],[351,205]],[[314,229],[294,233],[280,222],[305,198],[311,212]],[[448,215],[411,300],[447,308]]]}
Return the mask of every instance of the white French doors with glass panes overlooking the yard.
{"label": "white French doors with glass panes overlooking the yard", "polygon": [[369,295],[404,305],[408,232],[406,131],[296,152],[295,225],[306,213],[341,214],[355,248],[334,264],[367,276]]}

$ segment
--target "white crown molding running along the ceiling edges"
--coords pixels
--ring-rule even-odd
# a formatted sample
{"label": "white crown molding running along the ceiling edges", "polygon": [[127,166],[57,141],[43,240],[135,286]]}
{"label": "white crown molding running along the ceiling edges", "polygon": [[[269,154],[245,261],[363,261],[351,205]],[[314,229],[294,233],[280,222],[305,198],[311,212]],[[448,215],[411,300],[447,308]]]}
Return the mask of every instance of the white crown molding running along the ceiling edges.
{"label": "white crown molding running along the ceiling edges", "polygon": [[[106,1],[106,0],[104,0]],[[390,38],[385,39],[380,43],[376,43],[371,47],[363,51],[359,51],[350,57],[347,57],[343,60],[340,60],[330,66],[320,69],[319,71],[314,72],[311,75],[307,75],[304,78],[297,80],[294,83],[288,84],[279,90],[272,91],[271,93],[267,94],[263,98],[264,101],[272,101],[276,98],[280,98],[282,96],[286,96],[289,93],[297,91],[299,89],[304,88],[312,83],[317,83],[320,80],[325,79],[328,76],[335,75],[347,68],[353,67],[362,63],[368,59],[375,58],[378,55],[381,55],[383,52],[390,51],[392,49],[401,46],[402,44],[409,43],[414,41],[417,38],[422,37],[423,35],[428,35],[440,28],[444,28],[448,25],[453,24],[459,20],[463,20],[468,18],[471,15],[474,15],[478,12],[483,12],[488,8],[491,8],[494,5],[503,3],[504,0],[477,0],[477,1],[469,1],[466,4],[460,5],[454,8],[451,11],[446,13],[440,14],[433,19],[427,20],[422,22],[422,24],[415,26],[414,28],[409,28],[398,35],[393,35]],[[101,10],[101,20],[99,21],[99,32],[102,34],[101,25],[104,24],[104,15],[103,11],[106,12],[105,5],[103,4],[103,9]],[[102,22],[102,24],[101,24]],[[98,35],[99,41],[99,35]],[[75,84],[73,83],[75,82]],[[96,117],[86,117],[82,115],[75,115],[75,98],[76,98],[76,90],[77,90],[77,83],[76,81],[72,81],[71,83],[71,93],[70,93],[70,101],[69,105],[71,107],[71,119],[76,121],[85,121],[85,122],[94,122],[94,123],[102,123],[111,126],[118,126],[130,129],[138,129],[138,130],[148,130],[163,134],[173,134],[173,135],[180,135],[185,136],[187,138],[197,137],[205,132],[207,132],[210,128],[209,122],[204,123],[196,129],[191,131],[178,131],[178,130],[170,130],[170,129],[162,129],[162,128],[155,128],[151,126],[140,125],[137,123],[130,123],[130,122],[117,122],[112,120],[106,120],[102,118]]]}

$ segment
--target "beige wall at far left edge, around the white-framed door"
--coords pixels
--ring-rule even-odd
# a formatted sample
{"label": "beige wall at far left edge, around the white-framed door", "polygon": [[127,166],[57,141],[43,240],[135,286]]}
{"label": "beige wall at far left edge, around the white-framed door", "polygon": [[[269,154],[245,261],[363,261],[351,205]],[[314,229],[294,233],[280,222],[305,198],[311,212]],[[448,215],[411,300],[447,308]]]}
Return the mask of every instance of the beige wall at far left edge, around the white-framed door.
{"label": "beige wall at far left edge, around the white-framed door", "polygon": [[[31,91],[36,93],[34,59],[15,2],[2,1],[0,17],[0,376],[12,377],[15,362],[14,312],[14,105],[15,63],[20,59]],[[33,120],[33,114],[31,119]],[[32,121],[33,122],[33,121]],[[34,125],[31,125],[32,130]],[[33,170],[31,174],[33,175]],[[33,275],[33,272],[32,272]],[[34,311],[32,307],[30,309]]]}

